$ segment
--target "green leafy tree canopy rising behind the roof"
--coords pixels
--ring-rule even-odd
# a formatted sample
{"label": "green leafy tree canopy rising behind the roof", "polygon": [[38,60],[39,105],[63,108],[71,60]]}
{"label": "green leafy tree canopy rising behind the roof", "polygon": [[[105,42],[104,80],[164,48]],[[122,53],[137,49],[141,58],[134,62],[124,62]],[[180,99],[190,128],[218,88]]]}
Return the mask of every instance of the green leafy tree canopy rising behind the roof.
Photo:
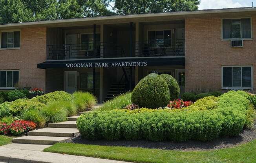
{"label": "green leafy tree canopy rising behind the roof", "polygon": [[200,0],[0,0],[0,24],[197,10]]}

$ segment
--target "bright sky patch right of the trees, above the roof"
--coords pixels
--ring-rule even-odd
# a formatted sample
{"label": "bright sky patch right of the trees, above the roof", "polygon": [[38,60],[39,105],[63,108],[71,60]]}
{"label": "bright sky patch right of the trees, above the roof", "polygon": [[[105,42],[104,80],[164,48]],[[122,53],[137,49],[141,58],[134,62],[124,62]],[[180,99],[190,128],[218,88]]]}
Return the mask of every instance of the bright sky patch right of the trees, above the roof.
{"label": "bright sky patch right of the trees, above the roof", "polygon": [[[251,7],[252,2],[253,0],[201,0],[201,4],[198,7],[200,10]],[[254,0],[254,6],[256,6],[256,0]]]}

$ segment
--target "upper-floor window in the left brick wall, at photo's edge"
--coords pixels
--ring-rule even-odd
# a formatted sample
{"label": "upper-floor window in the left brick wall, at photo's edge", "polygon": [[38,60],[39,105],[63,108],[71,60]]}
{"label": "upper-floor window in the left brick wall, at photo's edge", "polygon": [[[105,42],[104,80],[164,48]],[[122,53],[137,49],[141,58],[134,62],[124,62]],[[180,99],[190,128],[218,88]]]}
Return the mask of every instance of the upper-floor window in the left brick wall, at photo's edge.
{"label": "upper-floor window in the left brick wall, at photo's edge", "polygon": [[1,48],[17,47],[20,47],[20,31],[1,33]]}

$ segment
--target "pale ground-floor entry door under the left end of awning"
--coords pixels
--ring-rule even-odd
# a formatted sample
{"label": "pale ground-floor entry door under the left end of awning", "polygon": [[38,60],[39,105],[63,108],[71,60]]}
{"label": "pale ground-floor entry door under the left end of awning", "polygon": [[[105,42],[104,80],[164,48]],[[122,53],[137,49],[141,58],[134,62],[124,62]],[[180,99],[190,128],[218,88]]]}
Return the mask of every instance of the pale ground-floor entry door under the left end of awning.
{"label": "pale ground-floor entry door under the left end of awning", "polygon": [[65,91],[68,93],[77,91],[77,71],[65,71]]}

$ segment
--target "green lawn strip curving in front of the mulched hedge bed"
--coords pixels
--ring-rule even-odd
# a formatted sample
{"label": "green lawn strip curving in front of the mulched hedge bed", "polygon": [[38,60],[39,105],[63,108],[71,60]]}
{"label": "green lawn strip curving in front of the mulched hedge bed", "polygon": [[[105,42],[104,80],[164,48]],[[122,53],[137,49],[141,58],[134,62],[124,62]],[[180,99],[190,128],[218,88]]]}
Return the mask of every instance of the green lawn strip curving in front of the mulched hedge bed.
{"label": "green lawn strip curving in front of the mulched hedge bed", "polygon": [[46,152],[131,161],[137,163],[256,163],[256,140],[211,151],[175,151],[58,143]]}

